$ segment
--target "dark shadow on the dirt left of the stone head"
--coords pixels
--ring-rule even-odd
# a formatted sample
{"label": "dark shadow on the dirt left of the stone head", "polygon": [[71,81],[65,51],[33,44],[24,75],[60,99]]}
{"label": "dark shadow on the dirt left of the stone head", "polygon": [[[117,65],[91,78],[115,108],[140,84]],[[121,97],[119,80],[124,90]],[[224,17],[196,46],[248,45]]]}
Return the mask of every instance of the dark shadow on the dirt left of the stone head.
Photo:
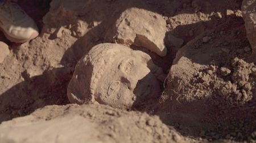
{"label": "dark shadow on the dirt left of the stone head", "polygon": [[72,72],[67,68],[55,68],[32,78],[24,72],[25,81],[0,96],[0,123],[47,105],[68,104],[67,85]]}

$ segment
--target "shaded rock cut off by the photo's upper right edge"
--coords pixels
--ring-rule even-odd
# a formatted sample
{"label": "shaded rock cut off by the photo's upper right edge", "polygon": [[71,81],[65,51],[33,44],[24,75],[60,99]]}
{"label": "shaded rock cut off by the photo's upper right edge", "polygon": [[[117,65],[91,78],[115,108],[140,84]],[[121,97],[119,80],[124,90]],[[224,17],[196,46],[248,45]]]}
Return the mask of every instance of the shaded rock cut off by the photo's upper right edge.
{"label": "shaded rock cut off by the photo's upper right edge", "polygon": [[242,16],[245,20],[245,28],[247,38],[253,49],[253,54],[256,54],[256,1],[243,0]]}

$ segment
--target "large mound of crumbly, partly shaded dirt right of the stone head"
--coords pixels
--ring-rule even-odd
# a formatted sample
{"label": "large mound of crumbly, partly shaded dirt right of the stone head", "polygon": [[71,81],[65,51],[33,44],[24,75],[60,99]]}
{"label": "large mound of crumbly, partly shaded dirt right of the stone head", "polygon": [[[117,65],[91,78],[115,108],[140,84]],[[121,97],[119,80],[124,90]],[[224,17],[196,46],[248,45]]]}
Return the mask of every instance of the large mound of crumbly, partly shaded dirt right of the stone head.
{"label": "large mound of crumbly, partly shaded dirt right of the stone head", "polygon": [[177,52],[164,93],[168,114],[159,115],[184,135],[255,138],[256,66],[246,62],[251,48],[240,23],[229,19]]}

